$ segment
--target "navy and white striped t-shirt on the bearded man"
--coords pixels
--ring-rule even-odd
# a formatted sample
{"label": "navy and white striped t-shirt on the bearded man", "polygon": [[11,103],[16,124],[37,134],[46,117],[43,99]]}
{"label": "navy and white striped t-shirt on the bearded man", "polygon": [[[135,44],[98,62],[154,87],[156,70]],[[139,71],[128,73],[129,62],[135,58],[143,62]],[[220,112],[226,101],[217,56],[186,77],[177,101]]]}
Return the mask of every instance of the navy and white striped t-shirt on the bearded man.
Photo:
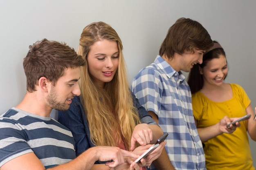
{"label": "navy and white striped t-shirt on the bearded man", "polygon": [[76,157],[74,139],[68,128],[51,117],[11,108],[0,115],[0,167],[29,152],[34,152],[45,168]]}

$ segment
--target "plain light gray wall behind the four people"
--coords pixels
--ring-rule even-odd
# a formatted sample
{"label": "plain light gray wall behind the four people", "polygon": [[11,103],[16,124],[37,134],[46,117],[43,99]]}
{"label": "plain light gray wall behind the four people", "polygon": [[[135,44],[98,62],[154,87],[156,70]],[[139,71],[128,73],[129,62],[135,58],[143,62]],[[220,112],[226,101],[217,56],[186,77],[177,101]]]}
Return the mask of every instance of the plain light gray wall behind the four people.
{"label": "plain light gray wall behind the four people", "polygon": [[[255,9],[255,0],[1,0],[0,113],[25,95],[22,62],[37,40],[66,42],[76,50],[86,25],[106,22],[123,42],[131,82],[153,62],[167,30],[180,17],[197,20],[220,42],[229,63],[226,82],[243,86],[254,108]],[[250,146],[256,166],[256,142],[250,140]]]}

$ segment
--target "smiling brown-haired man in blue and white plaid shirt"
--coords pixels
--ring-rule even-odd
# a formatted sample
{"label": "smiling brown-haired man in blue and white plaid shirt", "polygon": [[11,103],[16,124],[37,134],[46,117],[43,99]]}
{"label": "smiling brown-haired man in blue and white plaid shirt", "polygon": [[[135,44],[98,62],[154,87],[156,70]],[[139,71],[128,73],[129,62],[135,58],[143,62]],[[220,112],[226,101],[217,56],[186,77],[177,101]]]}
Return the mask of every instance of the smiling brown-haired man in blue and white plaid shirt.
{"label": "smiling brown-haired man in blue and white plaid shirt", "polygon": [[[176,170],[206,170],[191,91],[181,71],[189,72],[194,64],[202,63],[204,52],[212,45],[199,22],[180,18],[168,30],[155,61],[132,81],[132,92],[140,104],[169,134],[166,152]],[[157,163],[165,164],[166,160]]]}

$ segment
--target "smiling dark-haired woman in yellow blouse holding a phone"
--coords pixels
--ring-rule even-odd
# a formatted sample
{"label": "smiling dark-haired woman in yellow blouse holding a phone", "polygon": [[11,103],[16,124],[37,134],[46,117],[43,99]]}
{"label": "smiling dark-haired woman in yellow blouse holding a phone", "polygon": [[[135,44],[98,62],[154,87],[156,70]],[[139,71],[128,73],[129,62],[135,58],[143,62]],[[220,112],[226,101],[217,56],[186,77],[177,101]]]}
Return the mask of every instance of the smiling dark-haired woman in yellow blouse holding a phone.
{"label": "smiling dark-haired woman in yellow blouse holding a phone", "polygon": [[[214,41],[202,64],[189,73],[192,106],[200,139],[204,143],[207,170],[255,170],[249,148],[250,137],[256,141],[256,121],[251,101],[238,84],[224,82],[228,67],[225,51]],[[255,108],[256,109],[256,108]],[[232,134],[222,117],[251,118],[240,121]],[[237,118],[230,118],[234,121]]]}

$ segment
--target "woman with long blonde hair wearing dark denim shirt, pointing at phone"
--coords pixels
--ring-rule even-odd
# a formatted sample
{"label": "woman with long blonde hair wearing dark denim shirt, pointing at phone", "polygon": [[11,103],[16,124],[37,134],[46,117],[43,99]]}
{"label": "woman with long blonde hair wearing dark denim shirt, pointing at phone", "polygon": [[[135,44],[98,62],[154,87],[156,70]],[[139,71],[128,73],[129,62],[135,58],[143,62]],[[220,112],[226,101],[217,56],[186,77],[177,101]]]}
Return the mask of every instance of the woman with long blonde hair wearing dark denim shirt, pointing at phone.
{"label": "woman with long blonde hair wearing dark denim shirt, pointing at phone", "polygon": [[[83,29],[78,49],[86,62],[79,80],[81,95],[72,99],[67,112],[58,112],[58,121],[72,131],[76,155],[93,146],[117,146],[141,155],[163,135],[129,89],[122,49],[110,25],[94,22]],[[146,159],[147,166],[164,145]],[[97,162],[92,169],[108,167]]]}

